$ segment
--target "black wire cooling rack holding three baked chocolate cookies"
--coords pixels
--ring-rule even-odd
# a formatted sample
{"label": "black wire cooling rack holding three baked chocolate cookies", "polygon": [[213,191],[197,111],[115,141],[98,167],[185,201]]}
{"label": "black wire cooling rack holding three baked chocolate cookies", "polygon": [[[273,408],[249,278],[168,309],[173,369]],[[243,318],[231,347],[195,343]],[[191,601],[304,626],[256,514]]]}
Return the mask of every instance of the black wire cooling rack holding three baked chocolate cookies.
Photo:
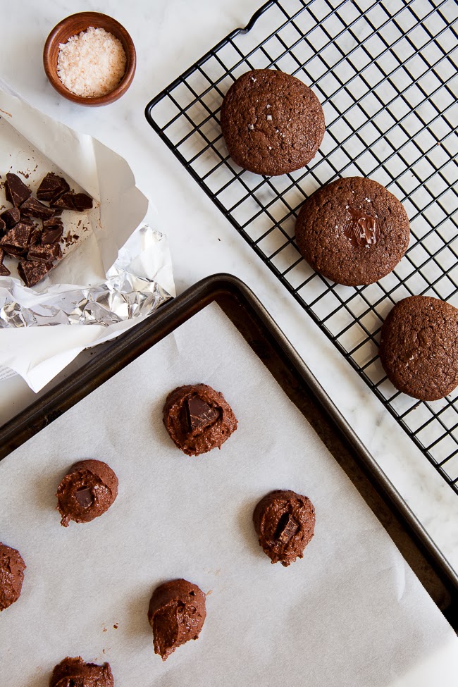
{"label": "black wire cooling rack holding three baked chocolate cookies", "polygon": [[[274,0],[154,98],[146,116],[458,493],[458,391],[417,402],[397,392],[378,359],[395,302],[431,295],[458,307],[457,24],[456,0]],[[326,135],[306,168],[269,178],[229,158],[221,101],[254,68],[294,74],[318,95]],[[387,187],[411,222],[395,271],[357,288],[316,274],[294,238],[304,199],[353,175]]]}

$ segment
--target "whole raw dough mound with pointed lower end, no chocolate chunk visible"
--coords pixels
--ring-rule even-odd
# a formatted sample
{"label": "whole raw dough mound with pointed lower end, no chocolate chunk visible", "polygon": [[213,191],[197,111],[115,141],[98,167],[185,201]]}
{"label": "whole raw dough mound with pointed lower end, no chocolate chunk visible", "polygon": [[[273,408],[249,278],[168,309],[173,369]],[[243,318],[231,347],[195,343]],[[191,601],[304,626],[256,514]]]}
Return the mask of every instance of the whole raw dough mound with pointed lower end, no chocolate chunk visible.
{"label": "whole raw dough mound with pointed lower end, no chocolate chunk visible", "polygon": [[156,587],[148,609],[154,653],[165,661],[178,646],[197,639],[205,617],[205,594],[197,585],[180,579]]}

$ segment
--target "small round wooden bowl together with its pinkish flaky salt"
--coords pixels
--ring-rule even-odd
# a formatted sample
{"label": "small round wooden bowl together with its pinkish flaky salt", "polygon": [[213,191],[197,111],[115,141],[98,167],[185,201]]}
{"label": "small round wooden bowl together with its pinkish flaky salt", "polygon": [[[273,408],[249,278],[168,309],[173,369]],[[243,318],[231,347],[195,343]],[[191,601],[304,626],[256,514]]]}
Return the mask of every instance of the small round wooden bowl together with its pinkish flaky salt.
{"label": "small round wooden bowl together with its pinkish flaky salt", "polygon": [[108,105],[132,83],[135,47],[123,25],[106,14],[79,12],[47,37],[44,71],[56,91],[78,105]]}

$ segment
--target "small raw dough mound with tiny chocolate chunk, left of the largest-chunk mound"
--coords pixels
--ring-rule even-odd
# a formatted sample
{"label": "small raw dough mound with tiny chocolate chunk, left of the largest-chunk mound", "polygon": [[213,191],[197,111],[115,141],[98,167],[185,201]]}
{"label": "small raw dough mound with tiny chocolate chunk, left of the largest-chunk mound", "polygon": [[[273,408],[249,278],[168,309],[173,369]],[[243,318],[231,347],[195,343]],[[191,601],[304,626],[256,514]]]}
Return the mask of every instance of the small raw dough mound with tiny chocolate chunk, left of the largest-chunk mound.
{"label": "small raw dough mound with tiny chocolate chunk, left of the largest-chunk mound", "polygon": [[118,478],[101,460],[75,463],[57,488],[61,525],[90,522],[106,512],[118,495]]}

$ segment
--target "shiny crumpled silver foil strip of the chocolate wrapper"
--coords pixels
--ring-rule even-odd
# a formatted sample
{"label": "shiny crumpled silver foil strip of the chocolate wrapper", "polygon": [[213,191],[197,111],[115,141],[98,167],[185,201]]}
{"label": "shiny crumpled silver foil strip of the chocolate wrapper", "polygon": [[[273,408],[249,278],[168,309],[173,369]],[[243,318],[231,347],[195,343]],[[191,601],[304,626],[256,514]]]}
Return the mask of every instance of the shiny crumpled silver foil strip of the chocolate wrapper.
{"label": "shiny crumpled silver foil strip of the chocolate wrapper", "polygon": [[[138,276],[117,264],[110,268],[105,283],[63,292],[44,292],[33,307],[19,304],[13,295],[12,279],[2,280],[0,329],[51,325],[118,322],[151,314],[171,295],[159,283]],[[39,300],[39,302],[37,302]]]}

